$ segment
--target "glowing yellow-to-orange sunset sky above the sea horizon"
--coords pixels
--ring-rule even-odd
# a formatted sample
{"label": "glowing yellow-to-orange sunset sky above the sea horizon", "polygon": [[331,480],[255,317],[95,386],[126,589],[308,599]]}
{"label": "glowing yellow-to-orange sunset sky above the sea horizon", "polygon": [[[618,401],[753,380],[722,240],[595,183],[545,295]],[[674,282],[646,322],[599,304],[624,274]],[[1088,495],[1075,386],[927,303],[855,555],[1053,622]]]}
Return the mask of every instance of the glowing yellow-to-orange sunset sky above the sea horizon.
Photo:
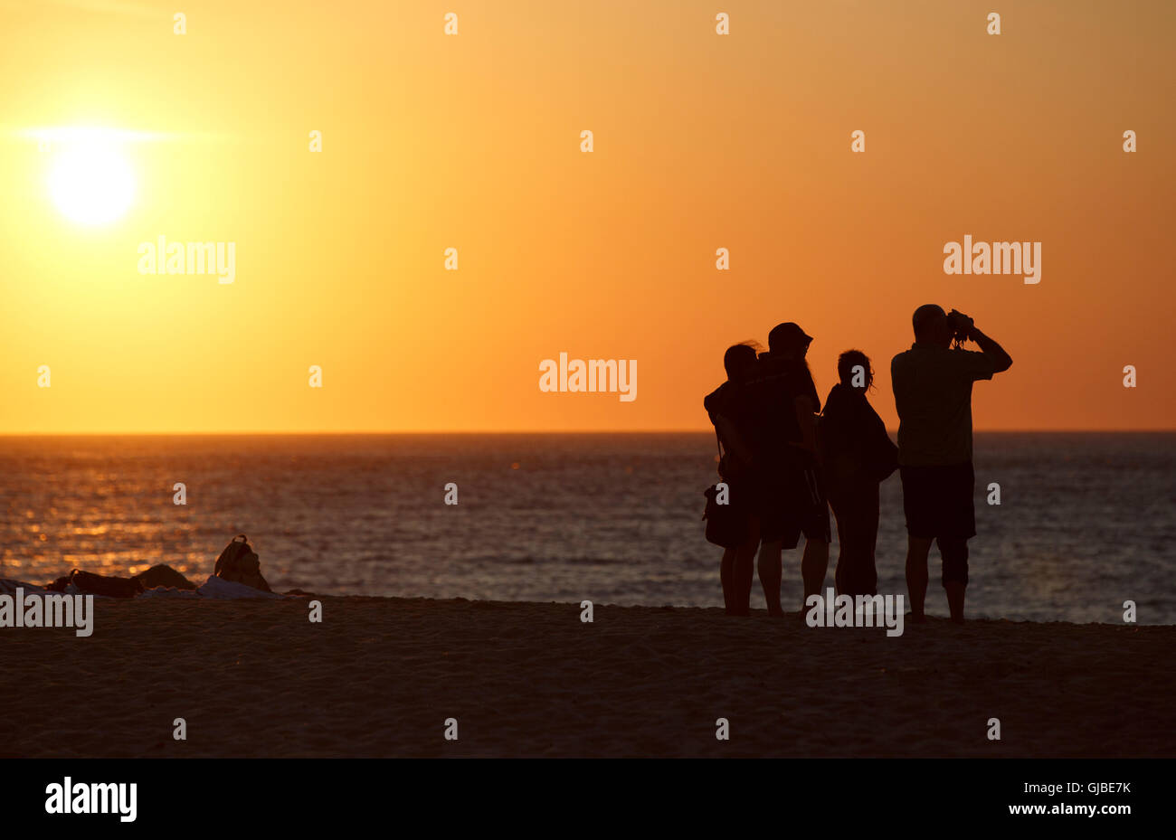
{"label": "glowing yellow-to-orange sunset sky above the sea horizon", "polygon": [[[0,0],[0,434],[706,429],[788,320],[822,397],[873,356],[893,428],[926,302],[1015,359],[977,429],[1174,428],[1176,4],[185,6]],[[82,227],[26,133],[94,125],[163,136]],[[161,234],[235,282],[139,274]],[[1042,242],[1041,283],[946,275],[965,234]],[[560,351],[637,398],[540,392]]]}

